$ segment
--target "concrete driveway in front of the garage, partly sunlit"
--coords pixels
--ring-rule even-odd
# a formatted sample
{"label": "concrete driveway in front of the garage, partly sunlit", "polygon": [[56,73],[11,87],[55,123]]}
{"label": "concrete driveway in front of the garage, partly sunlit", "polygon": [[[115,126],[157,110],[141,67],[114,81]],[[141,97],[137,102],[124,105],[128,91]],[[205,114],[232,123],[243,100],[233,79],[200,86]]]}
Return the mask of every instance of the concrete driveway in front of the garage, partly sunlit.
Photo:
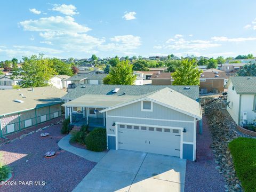
{"label": "concrete driveway in front of the garage, partly sunlit", "polygon": [[186,160],[110,150],[73,191],[184,191]]}

